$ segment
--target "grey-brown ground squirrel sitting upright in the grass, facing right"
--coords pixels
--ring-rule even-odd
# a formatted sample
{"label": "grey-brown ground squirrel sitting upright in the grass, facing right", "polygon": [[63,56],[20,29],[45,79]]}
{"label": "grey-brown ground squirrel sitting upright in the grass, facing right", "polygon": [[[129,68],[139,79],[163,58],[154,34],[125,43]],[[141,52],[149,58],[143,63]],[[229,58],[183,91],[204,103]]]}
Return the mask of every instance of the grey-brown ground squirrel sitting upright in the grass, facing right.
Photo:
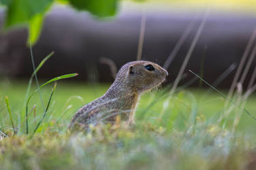
{"label": "grey-brown ground squirrel sitting upright in the grass, facing right", "polygon": [[134,112],[143,92],[160,85],[168,72],[150,61],[126,63],[117,73],[115,82],[102,97],[81,107],[70,123],[97,124],[102,120],[115,122],[117,115],[128,124],[134,123]]}

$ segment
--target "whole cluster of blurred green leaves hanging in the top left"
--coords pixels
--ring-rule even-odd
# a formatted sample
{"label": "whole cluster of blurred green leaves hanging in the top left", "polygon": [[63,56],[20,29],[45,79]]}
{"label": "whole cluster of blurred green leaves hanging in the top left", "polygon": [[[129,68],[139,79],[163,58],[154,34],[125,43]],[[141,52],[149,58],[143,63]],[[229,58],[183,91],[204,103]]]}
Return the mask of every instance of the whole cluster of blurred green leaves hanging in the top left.
{"label": "whole cluster of blurred green leaves hanging in the top left", "polygon": [[76,10],[87,10],[95,16],[114,16],[119,0],[0,0],[6,6],[5,29],[25,26],[29,29],[27,44],[35,44],[40,36],[44,16],[56,1],[69,3]]}

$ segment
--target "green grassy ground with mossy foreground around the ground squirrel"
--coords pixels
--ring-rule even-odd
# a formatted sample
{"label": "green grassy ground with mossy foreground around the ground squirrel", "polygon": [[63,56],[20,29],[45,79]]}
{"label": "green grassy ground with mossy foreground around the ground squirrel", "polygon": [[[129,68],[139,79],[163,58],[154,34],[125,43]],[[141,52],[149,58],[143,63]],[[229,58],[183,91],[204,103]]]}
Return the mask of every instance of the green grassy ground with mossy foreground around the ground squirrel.
{"label": "green grassy ground with mossy foreground around the ground squirrel", "polygon": [[[225,99],[213,91],[205,96],[207,89],[197,88],[175,93],[169,101],[160,95],[165,88],[148,92],[141,97],[137,123],[130,128],[106,124],[89,133],[70,133],[67,126],[74,112],[104,94],[110,84],[61,81],[31,137],[25,135],[22,122],[27,84],[27,80],[0,82],[0,131],[8,135],[0,138],[1,169],[246,169],[255,152],[255,120],[236,108],[223,126],[217,120],[225,112]],[[52,88],[50,84],[41,89],[44,105]],[[32,84],[31,92],[35,89]],[[9,98],[14,126],[21,124],[17,135],[4,96]],[[246,102],[254,116],[255,103],[255,96]],[[32,108],[30,134],[44,114],[38,93],[29,103],[29,113]],[[233,120],[240,114],[233,131]]]}

